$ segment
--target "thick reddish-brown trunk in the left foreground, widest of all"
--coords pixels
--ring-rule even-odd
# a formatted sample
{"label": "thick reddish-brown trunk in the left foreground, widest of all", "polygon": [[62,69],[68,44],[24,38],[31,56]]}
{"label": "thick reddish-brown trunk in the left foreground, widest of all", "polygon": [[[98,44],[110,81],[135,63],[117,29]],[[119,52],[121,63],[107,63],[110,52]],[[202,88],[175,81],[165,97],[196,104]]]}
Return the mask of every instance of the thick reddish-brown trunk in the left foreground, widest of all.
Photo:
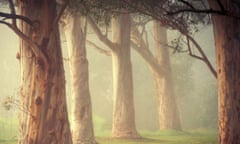
{"label": "thick reddish-brown trunk in the left foreground, widest of all", "polygon": [[29,43],[20,39],[19,144],[71,144],[59,32],[53,29],[56,3],[18,2],[20,15],[36,22],[30,27],[21,21],[21,31],[32,38],[47,59],[43,61]]}

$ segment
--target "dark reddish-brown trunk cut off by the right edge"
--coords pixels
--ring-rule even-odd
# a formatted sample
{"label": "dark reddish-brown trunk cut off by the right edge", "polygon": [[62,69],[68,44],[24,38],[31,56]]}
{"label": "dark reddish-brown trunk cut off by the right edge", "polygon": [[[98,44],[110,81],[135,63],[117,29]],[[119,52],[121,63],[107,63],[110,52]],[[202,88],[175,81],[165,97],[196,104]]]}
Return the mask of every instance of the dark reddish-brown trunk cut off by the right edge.
{"label": "dark reddish-brown trunk cut off by the right edge", "polygon": [[[233,0],[220,0],[229,11],[239,11]],[[209,0],[212,8],[218,4]],[[213,15],[218,75],[219,144],[240,143],[240,20]]]}

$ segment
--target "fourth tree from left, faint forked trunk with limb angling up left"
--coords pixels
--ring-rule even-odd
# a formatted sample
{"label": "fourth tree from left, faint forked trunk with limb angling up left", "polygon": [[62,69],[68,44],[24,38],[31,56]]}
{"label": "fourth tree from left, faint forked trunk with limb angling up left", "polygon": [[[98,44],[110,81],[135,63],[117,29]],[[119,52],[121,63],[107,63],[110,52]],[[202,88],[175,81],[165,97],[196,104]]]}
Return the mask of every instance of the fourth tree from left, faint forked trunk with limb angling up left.
{"label": "fourth tree from left, faint forked trunk with limb angling up left", "polygon": [[132,30],[132,46],[146,60],[153,73],[158,102],[159,128],[181,130],[168,47],[165,46],[167,33],[166,29],[161,27],[157,21],[153,22],[153,37],[156,56],[149,48],[148,39],[144,41],[141,32],[136,28]]}

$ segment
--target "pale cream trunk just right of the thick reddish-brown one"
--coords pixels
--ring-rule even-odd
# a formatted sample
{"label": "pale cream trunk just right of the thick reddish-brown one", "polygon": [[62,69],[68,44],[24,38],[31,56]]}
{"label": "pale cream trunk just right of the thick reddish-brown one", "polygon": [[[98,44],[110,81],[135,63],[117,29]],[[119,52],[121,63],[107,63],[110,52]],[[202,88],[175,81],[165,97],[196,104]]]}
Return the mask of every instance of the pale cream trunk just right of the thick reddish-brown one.
{"label": "pale cream trunk just right of the thick reddish-brown one", "polygon": [[64,31],[70,58],[74,144],[95,144],[86,56],[86,17],[67,12]]}

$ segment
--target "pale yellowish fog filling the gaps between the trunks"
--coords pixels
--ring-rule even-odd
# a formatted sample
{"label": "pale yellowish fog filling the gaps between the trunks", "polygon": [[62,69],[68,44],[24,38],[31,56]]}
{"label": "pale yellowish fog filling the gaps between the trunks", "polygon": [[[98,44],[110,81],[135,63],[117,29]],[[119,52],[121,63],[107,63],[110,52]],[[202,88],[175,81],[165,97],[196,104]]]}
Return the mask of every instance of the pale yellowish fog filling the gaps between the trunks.
{"label": "pale yellowish fog filling the gaps between the trunks", "polygon": [[[151,28],[148,28],[149,38]],[[16,59],[18,37],[7,27],[0,25],[0,128],[11,125],[11,133],[17,133],[17,112],[19,106],[6,110],[3,102],[7,97],[19,99],[20,65]],[[168,32],[169,41],[177,35]],[[215,52],[212,26],[203,27],[194,35],[215,67]],[[96,36],[88,34],[88,39],[107,49]],[[150,46],[153,46],[151,44]],[[62,38],[64,58],[68,58],[66,43]],[[154,49],[154,48],[152,48]],[[183,129],[217,129],[217,91],[216,78],[200,60],[186,53],[173,53],[169,50],[172,63],[175,93]],[[196,52],[196,51],[194,51]],[[197,52],[196,52],[197,53]],[[93,106],[95,131],[111,129],[112,118],[112,62],[111,56],[99,53],[95,48],[87,46],[89,60],[89,83]],[[134,78],[135,115],[138,130],[158,130],[157,104],[153,76],[141,56],[132,50]],[[68,61],[64,60],[66,75],[66,92],[68,108],[71,110],[71,91],[69,82]],[[70,113],[70,112],[69,112]],[[4,119],[9,119],[5,122]],[[1,135],[1,134],[0,134]]]}

